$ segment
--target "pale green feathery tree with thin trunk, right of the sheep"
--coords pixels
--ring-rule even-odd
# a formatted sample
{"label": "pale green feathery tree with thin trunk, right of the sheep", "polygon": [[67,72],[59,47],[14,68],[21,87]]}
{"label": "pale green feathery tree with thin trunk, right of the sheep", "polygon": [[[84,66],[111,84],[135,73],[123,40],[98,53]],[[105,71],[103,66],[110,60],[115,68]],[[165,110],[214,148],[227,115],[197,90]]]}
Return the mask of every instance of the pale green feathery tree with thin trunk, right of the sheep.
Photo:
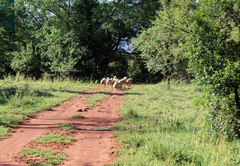
{"label": "pale green feathery tree with thin trunk, right of the sheep", "polygon": [[157,12],[158,16],[152,21],[152,26],[143,29],[132,44],[134,50],[141,51],[140,55],[145,59],[148,70],[153,73],[161,72],[168,79],[170,87],[170,78],[181,67],[185,69],[186,66],[183,65],[183,51],[179,47],[181,37],[176,35],[176,4],[169,1],[163,1],[162,4],[163,8]]}

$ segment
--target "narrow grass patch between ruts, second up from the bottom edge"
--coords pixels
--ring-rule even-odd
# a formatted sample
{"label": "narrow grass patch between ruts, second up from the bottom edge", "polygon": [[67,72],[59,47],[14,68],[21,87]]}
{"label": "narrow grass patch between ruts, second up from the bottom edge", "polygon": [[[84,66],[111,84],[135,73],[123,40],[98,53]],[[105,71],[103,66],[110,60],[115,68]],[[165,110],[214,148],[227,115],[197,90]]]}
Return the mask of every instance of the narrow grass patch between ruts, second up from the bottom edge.
{"label": "narrow grass patch between ruts, second up from the bottom edge", "polygon": [[65,133],[63,134],[51,133],[51,134],[33,139],[31,142],[35,142],[42,145],[48,145],[49,143],[69,145],[69,144],[73,144],[73,142],[75,141],[76,141],[75,138],[72,138]]}

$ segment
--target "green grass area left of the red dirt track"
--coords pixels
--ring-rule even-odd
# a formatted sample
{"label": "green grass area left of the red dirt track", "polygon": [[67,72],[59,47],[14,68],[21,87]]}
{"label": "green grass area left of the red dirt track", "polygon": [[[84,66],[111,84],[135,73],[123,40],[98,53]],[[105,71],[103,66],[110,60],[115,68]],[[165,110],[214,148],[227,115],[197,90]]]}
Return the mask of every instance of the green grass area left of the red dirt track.
{"label": "green grass area left of the red dirt track", "polygon": [[99,84],[70,79],[34,80],[22,75],[0,80],[0,139],[11,134],[13,124],[96,87]]}

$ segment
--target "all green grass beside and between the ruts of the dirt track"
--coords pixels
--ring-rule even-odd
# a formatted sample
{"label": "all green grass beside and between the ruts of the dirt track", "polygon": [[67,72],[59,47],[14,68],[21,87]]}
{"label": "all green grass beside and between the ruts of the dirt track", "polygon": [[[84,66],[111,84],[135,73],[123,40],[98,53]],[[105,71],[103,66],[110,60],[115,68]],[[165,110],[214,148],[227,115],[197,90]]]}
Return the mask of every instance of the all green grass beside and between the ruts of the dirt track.
{"label": "all green grass beside and between the ruts of the dirt track", "polygon": [[[13,124],[93,86],[99,84],[70,80],[35,81],[20,76],[5,78],[0,87],[1,138],[10,134]],[[89,103],[97,105],[111,90],[107,88],[94,94]],[[170,89],[167,82],[133,85],[123,98],[120,123],[113,126],[122,147],[114,151],[119,157],[112,165],[239,165],[239,140],[229,140],[224,134],[216,137],[211,132],[204,95],[204,90],[195,84],[179,81],[172,81]],[[84,118],[84,115],[76,114],[71,118]],[[76,141],[67,133],[79,130],[78,127],[73,123],[57,125],[64,133],[49,132],[32,142],[69,145]],[[56,165],[66,159],[62,152],[38,147],[24,149],[18,157],[26,158],[30,165]]]}

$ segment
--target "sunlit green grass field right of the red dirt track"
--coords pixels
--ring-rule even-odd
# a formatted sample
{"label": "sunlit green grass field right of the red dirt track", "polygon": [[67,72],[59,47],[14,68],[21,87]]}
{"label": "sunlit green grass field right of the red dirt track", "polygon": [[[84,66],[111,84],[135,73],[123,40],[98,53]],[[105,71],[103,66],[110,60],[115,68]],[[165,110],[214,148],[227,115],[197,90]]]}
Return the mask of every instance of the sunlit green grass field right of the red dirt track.
{"label": "sunlit green grass field right of the red dirt track", "polygon": [[240,165],[238,140],[205,137],[207,112],[194,105],[203,94],[179,82],[133,86],[114,126],[122,148],[113,165]]}

